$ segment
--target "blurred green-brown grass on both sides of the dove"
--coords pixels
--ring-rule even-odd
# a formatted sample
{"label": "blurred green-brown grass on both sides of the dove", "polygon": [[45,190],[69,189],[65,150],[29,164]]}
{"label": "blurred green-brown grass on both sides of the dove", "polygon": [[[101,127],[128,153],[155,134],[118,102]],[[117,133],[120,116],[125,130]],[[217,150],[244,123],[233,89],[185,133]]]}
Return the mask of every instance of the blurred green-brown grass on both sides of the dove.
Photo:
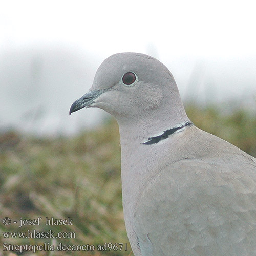
{"label": "blurred green-brown grass on both sides of the dove", "polygon": [[[256,113],[236,105],[187,103],[189,118],[256,156]],[[122,211],[120,142],[115,120],[73,137],[35,138],[13,131],[0,136],[0,246],[59,243],[94,245],[94,251],[25,251],[0,255],[114,255],[131,253]],[[9,217],[10,225],[2,219]],[[18,228],[19,218],[37,219],[39,226]],[[45,217],[72,219],[73,225],[44,225]],[[13,220],[18,221],[13,224]],[[3,231],[75,232],[75,238],[3,238]],[[98,251],[104,243],[127,243],[127,250]],[[6,253],[6,254],[3,254]]]}

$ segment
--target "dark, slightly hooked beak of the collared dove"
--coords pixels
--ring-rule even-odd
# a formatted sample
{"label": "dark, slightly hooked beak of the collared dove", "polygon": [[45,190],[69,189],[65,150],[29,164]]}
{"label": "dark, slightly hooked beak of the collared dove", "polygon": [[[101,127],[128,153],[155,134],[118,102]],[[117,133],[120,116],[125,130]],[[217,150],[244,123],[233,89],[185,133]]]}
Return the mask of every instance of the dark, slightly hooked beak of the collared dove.
{"label": "dark, slightly hooked beak of the collared dove", "polygon": [[94,100],[98,98],[106,89],[89,91],[84,94],[80,99],[76,100],[70,107],[69,114],[78,111],[82,108],[89,108],[89,106],[94,103]]}

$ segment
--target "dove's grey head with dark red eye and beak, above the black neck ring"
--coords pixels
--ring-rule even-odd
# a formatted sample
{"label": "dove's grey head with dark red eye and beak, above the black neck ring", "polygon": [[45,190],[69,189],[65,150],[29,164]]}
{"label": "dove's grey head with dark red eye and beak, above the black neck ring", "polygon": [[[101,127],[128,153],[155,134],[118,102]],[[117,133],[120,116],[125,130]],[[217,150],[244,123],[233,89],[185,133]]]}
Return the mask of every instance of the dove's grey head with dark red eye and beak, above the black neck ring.
{"label": "dove's grey head with dark red eye and beak, above the black neck ring", "polygon": [[72,104],[70,114],[89,107],[109,112],[119,126],[160,121],[167,129],[188,121],[173,75],[140,53],[118,53],[103,61],[90,91]]}

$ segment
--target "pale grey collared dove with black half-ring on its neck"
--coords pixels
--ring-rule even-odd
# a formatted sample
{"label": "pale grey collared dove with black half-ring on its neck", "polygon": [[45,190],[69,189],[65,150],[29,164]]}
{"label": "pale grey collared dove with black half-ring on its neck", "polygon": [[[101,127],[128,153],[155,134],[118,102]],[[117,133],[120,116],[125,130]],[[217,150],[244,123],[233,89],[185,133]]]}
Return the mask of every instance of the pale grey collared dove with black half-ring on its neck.
{"label": "pale grey collared dove with black half-ring on its neck", "polygon": [[135,256],[256,255],[256,159],[198,129],[157,59],[110,56],[70,114],[119,125],[124,220]]}

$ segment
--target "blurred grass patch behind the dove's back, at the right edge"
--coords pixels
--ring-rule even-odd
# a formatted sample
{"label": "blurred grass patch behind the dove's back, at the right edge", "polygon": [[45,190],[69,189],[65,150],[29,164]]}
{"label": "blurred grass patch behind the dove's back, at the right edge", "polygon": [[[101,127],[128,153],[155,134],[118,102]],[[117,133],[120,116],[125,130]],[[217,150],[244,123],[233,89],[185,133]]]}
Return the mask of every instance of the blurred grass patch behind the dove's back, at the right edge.
{"label": "blurred grass patch behind the dove's back, at the right edge", "polygon": [[236,101],[205,106],[187,103],[185,109],[189,119],[197,127],[256,157],[255,103],[249,109]]}

